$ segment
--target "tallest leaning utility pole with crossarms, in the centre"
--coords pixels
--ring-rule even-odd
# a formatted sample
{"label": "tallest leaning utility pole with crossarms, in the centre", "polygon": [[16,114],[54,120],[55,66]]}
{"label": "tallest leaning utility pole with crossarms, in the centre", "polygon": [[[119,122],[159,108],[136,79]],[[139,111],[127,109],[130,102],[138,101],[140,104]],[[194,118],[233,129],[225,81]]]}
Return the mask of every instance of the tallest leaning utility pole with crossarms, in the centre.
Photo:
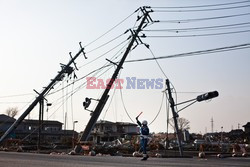
{"label": "tallest leaning utility pole with crossarms, in the centre", "polygon": [[[87,126],[86,126],[86,128],[85,128],[85,130],[84,130],[84,132],[82,134],[82,136],[80,137],[79,142],[80,141],[87,141],[88,140],[90,132],[93,129],[93,127],[95,126],[95,123],[96,123],[97,119],[99,118],[99,116],[100,116],[100,114],[102,112],[102,109],[103,109],[103,107],[106,104],[106,101],[108,100],[108,97],[109,97],[108,93],[109,93],[109,91],[110,91],[110,89],[111,89],[111,87],[112,87],[115,79],[117,78],[117,76],[119,74],[119,71],[122,68],[122,65],[123,65],[123,63],[124,63],[127,55],[129,54],[129,52],[130,52],[130,50],[131,50],[134,42],[137,40],[137,38],[139,38],[138,37],[139,32],[142,30],[142,28],[144,28],[147,25],[147,23],[149,21],[152,21],[152,19],[149,16],[149,12],[152,12],[152,10],[151,11],[147,11],[146,8],[147,7],[139,8],[142,11],[142,13],[143,13],[143,16],[139,18],[139,19],[142,18],[141,23],[139,24],[137,30],[135,30],[135,31],[131,30],[131,32],[132,32],[131,42],[129,43],[129,45],[128,45],[128,47],[127,47],[127,49],[126,49],[126,51],[125,51],[125,53],[124,53],[124,55],[123,55],[120,63],[117,65],[117,68],[116,68],[116,70],[115,70],[112,78],[110,79],[109,83],[107,84],[106,89],[105,89],[102,97],[100,98],[100,100],[98,100],[99,102],[98,102],[95,110],[93,111],[92,116],[91,116],[91,118],[90,118],[90,120],[89,120],[89,122],[88,122],[88,124],[87,124]],[[148,22],[145,22],[146,20]],[[75,151],[78,152],[78,148],[75,148]]]}

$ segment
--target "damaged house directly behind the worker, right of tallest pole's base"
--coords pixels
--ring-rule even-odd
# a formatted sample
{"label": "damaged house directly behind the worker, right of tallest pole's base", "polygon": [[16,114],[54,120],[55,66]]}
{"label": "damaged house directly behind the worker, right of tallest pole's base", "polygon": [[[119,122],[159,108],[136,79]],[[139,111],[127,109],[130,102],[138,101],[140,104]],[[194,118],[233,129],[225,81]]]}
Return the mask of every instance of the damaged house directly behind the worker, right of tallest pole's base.
{"label": "damaged house directly behind the worker, right of tallest pole's base", "polygon": [[111,142],[119,138],[138,134],[137,124],[100,120],[96,122],[95,127],[91,131],[89,140],[94,143]]}

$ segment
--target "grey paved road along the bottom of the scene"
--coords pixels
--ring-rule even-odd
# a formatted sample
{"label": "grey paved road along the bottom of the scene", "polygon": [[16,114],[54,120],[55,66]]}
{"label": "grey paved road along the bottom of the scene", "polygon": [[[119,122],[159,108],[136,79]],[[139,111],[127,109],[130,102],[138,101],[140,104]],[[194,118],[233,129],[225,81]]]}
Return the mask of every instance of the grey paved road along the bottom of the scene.
{"label": "grey paved road along the bottom of the scene", "polygon": [[250,166],[250,158],[140,158],[119,156],[70,156],[0,152],[0,167],[167,167]]}

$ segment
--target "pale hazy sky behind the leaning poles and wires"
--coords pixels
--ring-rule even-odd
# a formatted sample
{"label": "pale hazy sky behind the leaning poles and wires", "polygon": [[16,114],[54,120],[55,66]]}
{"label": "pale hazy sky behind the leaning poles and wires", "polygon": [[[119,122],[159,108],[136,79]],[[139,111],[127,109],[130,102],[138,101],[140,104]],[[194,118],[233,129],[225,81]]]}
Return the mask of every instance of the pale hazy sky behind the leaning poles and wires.
{"label": "pale hazy sky behind the leaning poles and wires", "polygon": [[[150,17],[160,22],[148,24],[139,34],[145,34],[146,38],[140,39],[150,49],[139,41],[140,45],[126,60],[249,44],[248,5],[250,2],[244,0],[0,0],[0,114],[9,107],[17,107],[18,118],[37,96],[34,89],[41,92],[50,83],[61,70],[60,63],[67,64],[70,60],[69,52],[74,56],[79,51],[81,41],[88,59],[81,55],[75,61],[79,68],[75,70],[78,80],[65,77],[46,96],[52,106],[45,108],[44,119],[61,121],[67,129],[72,129],[73,122],[78,121],[76,130],[83,131],[90,118],[90,112],[82,106],[83,101],[86,97],[98,99],[104,91],[88,89],[83,77],[107,65],[106,58],[119,62],[131,34],[124,32],[135,30],[140,23],[136,20],[142,12],[135,12],[136,9],[151,6],[154,12]],[[223,16],[231,17],[218,18]],[[185,35],[188,37],[183,37]],[[175,88],[176,103],[209,91],[219,92],[219,97],[195,103],[179,112],[180,117],[190,121],[190,132],[211,132],[212,118],[215,132],[221,131],[221,127],[223,131],[242,128],[250,121],[249,62],[249,47],[157,62],[127,62],[119,74],[124,81],[123,89],[110,90],[99,119],[135,122],[135,117],[143,112],[140,120],[152,122],[151,132],[166,132],[168,109],[163,91],[167,77]],[[114,70],[115,66],[111,65],[88,77],[106,81]],[[158,79],[160,89],[139,89],[140,85],[128,89],[127,82],[132,77],[136,81]],[[92,100],[88,109],[94,110],[95,106],[96,101]],[[27,119],[37,119],[38,109],[35,107]],[[172,117],[171,110],[169,112]]]}

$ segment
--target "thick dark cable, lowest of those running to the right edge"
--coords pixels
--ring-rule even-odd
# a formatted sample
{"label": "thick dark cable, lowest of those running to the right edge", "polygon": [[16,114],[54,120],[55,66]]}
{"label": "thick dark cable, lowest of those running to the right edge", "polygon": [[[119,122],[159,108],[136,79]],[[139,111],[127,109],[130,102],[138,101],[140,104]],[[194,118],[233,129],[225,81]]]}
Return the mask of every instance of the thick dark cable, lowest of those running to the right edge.
{"label": "thick dark cable, lowest of those running to the right edge", "polygon": [[174,54],[174,55],[168,55],[168,56],[161,56],[161,57],[155,57],[155,58],[127,60],[125,62],[126,63],[131,63],[131,62],[149,61],[149,60],[155,60],[155,59],[168,59],[168,58],[188,57],[188,56],[210,54],[210,53],[218,53],[218,52],[226,52],[226,51],[239,50],[239,49],[248,49],[248,48],[250,48],[250,43],[241,44],[241,45],[234,45],[234,46],[227,46],[227,47],[221,47],[221,48],[214,48],[214,49],[207,49],[207,50],[199,50],[199,51],[194,51],[194,52],[180,53],[180,54]]}

